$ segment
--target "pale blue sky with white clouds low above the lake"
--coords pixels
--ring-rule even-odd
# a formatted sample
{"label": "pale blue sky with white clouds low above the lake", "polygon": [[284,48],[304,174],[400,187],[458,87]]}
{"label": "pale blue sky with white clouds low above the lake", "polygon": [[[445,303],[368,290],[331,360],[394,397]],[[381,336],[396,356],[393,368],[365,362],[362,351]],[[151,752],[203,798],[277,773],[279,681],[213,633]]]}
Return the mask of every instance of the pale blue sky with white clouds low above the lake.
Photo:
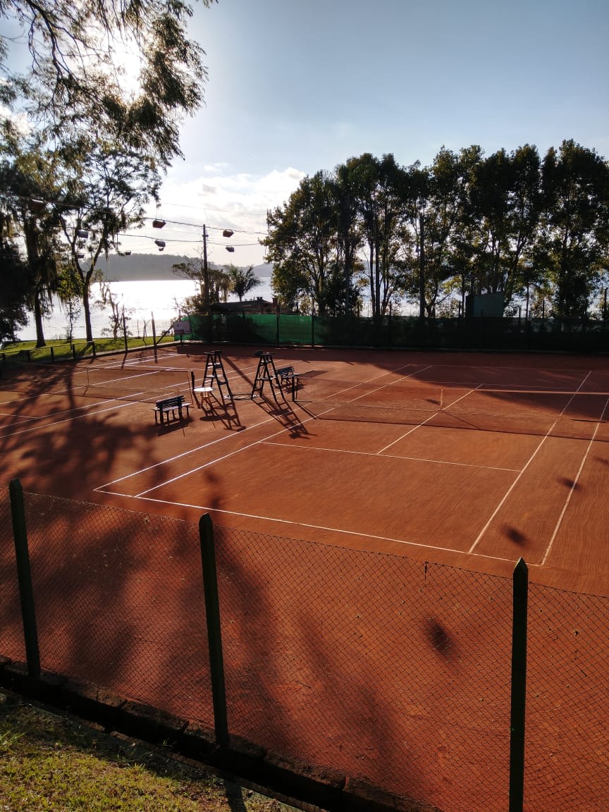
{"label": "pale blue sky with white clouds low above the lake", "polygon": [[572,138],[609,158],[607,0],[219,0],[190,32],[209,81],[150,211],[192,223],[167,223],[166,253],[196,253],[205,222],[210,259],[261,262],[266,209],[364,152],[427,165],[443,145]]}

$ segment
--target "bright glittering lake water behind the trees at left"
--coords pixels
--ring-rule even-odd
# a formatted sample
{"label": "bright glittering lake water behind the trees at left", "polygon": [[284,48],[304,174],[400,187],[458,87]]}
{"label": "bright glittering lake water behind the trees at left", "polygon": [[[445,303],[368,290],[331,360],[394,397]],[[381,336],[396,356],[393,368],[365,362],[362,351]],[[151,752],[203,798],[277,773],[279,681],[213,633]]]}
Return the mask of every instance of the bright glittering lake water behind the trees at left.
{"label": "bright glittering lake water behind the trees at left", "polygon": [[[113,282],[111,290],[114,296],[124,304],[125,310],[131,310],[127,315],[131,318],[128,322],[128,330],[132,335],[142,335],[146,322],[147,335],[152,335],[151,321],[154,317],[154,324],[157,335],[165,330],[171,322],[179,316],[180,306],[187,296],[193,296],[199,292],[197,283],[189,279],[167,279],[143,282]],[[99,299],[99,286],[91,286],[91,300]],[[266,280],[261,285],[255,287],[252,296],[263,296],[270,300],[272,293]],[[235,298],[235,297],[231,297]],[[91,309],[91,324],[93,327],[93,337],[101,338],[102,330],[110,326],[110,310],[102,310],[97,307]],[[44,321],[45,339],[63,339],[67,335],[67,317],[59,304],[55,304],[52,316]],[[81,315],[74,329],[75,339],[86,338],[84,331],[84,317]],[[19,330],[18,339],[31,341],[36,339],[36,328],[33,316],[23,330]]]}

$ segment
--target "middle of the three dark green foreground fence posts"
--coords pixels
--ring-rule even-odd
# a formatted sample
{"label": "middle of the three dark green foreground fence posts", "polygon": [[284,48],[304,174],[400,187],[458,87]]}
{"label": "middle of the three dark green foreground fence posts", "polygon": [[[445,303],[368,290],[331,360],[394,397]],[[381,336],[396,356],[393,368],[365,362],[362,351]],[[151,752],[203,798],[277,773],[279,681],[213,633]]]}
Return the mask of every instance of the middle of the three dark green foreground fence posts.
{"label": "middle of the three dark green foreground fence posts", "polygon": [[227,694],[224,685],[224,658],[220,628],[220,601],[214,547],[214,525],[209,513],[199,520],[201,562],[203,564],[203,590],[205,592],[205,619],[209,646],[209,672],[214,704],[214,730],[218,745],[228,745]]}

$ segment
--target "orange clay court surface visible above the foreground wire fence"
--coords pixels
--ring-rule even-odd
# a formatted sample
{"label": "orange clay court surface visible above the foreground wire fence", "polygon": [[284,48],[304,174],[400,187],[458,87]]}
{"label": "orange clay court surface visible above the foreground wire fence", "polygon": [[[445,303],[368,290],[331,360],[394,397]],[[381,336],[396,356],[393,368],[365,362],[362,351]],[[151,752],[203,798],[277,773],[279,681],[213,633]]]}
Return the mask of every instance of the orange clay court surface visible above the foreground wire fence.
{"label": "orange clay court surface visible above the foreground wire fence", "polygon": [[[564,588],[609,571],[602,358],[223,348],[234,400],[192,394],[207,349],[23,365],[0,391],[2,470],[25,490],[486,572],[523,556]],[[188,421],[160,427],[159,397]],[[537,577],[534,576],[533,577]]]}

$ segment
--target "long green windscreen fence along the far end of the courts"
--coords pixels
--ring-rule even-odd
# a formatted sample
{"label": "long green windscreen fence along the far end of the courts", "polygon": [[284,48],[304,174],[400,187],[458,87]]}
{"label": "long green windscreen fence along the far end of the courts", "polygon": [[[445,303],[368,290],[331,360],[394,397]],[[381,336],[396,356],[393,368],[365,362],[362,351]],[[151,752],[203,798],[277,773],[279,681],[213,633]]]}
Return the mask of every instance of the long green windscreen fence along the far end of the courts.
{"label": "long green windscreen fence along the far end of the courts", "polygon": [[[330,317],[287,313],[193,313],[184,339],[320,347],[417,347],[503,352],[607,352],[609,322],[507,317]],[[176,336],[177,340],[182,336]]]}

